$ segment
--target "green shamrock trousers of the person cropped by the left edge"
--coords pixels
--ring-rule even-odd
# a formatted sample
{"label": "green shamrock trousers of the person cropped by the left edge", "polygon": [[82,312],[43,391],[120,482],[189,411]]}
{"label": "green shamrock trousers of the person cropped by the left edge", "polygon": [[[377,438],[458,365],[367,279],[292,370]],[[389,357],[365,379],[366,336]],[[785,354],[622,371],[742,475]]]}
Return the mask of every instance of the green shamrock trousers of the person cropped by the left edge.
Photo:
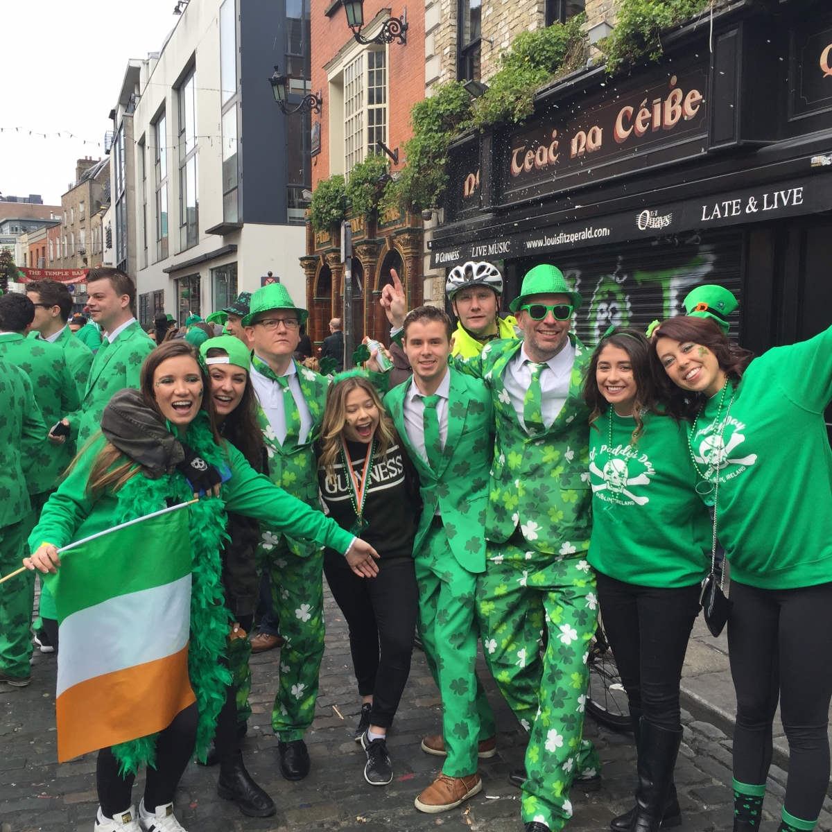
{"label": "green shamrock trousers of the person cropped by the left edge", "polygon": [[[26,557],[27,521],[0,528],[0,577],[21,567]],[[32,675],[32,604],[35,602],[35,573],[27,569],[0,583],[0,670],[9,676]]]}

